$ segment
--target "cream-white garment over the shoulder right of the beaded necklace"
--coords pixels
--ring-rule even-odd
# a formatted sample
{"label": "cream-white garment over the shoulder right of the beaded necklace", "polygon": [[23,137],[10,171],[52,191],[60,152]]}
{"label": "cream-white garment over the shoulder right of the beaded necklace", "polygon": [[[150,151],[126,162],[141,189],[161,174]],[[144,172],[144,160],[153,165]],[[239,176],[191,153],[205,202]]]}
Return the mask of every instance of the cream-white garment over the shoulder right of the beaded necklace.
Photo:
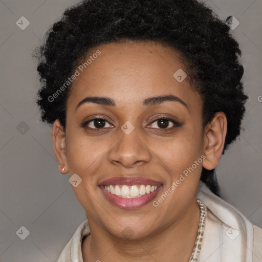
{"label": "cream-white garment over the shoulder right of the beaded necklace", "polygon": [[252,225],[241,212],[213,194],[202,182],[198,198],[206,205],[208,213],[203,253],[207,255],[210,249],[220,247],[207,261],[261,262],[262,229]]}

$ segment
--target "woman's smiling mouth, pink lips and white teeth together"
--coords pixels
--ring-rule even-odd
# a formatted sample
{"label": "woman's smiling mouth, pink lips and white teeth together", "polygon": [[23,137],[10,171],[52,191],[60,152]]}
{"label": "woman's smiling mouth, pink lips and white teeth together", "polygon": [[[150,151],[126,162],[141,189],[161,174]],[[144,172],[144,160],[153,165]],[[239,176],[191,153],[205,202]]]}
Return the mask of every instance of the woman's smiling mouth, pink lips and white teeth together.
{"label": "woman's smiling mouth, pink lips and white teeth together", "polygon": [[121,209],[141,208],[155,199],[161,182],[140,177],[116,177],[99,184],[105,198]]}

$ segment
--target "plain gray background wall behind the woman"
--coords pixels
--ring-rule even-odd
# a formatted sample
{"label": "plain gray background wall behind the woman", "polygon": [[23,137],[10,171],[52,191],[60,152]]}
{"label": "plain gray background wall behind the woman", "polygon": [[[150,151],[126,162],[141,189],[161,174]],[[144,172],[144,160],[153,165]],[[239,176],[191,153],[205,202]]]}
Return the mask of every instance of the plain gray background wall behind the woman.
{"label": "plain gray background wall behind the woman", "polygon": [[[32,51],[69,0],[0,0],[0,261],[56,261],[86,217],[54,157],[51,127],[39,121],[39,88]],[[221,18],[235,16],[232,30],[243,52],[243,82],[249,96],[243,132],[222,156],[217,176],[222,197],[262,227],[261,0],[206,1]],[[30,25],[21,30],[16,21]],[[262,100],[262,99],[261,99]],[[26,122],[25,134],[17,126]],[[23,125],[23,124],[20,124]],[[18,130],[17,130],[18,129]],[[21,240],[16,231],[30,234]]]}

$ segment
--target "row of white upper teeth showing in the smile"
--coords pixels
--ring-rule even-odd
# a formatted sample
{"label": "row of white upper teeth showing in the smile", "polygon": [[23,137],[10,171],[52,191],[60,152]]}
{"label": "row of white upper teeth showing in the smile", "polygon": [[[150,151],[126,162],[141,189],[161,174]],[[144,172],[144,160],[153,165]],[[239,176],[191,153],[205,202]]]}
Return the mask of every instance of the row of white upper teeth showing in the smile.
{"label": "row of white upper teeth showing in the smile", "polygon": [[107,192],[118,195],[121,198],[138,198],[144,194],[149,194],[157,189],[158,186],[151,185],[108,185],[104,186]]}

